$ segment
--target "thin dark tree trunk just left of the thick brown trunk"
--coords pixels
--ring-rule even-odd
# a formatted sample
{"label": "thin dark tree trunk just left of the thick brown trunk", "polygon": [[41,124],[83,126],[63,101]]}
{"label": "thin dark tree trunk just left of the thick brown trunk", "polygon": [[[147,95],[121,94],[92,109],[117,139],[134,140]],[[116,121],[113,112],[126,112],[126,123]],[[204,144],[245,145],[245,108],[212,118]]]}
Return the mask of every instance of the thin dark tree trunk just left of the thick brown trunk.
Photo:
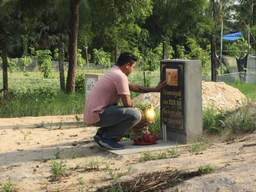
{"label": "thin dark tree trunk just left of the thick brown trunk", "polygon": [[59,80],[61,82],[61,90],[65,92],[65,74],[64,74],[64,43],[59,42]]}

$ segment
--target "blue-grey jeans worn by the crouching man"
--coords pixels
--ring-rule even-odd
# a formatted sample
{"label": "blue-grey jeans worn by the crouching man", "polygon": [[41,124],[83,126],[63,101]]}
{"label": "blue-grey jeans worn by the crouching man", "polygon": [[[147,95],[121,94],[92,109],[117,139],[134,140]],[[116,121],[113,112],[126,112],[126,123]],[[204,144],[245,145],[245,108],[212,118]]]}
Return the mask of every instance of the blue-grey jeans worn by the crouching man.
{"label": "blue-grey jeans worn by the crouching man", "polygon": [[135,108],[110,105],[99,114],[99,119],[99,122],[93,124],[101,127],[97,134],[102,134],[103,138],[120,140],[126,131],[140,122],[141,112]]}

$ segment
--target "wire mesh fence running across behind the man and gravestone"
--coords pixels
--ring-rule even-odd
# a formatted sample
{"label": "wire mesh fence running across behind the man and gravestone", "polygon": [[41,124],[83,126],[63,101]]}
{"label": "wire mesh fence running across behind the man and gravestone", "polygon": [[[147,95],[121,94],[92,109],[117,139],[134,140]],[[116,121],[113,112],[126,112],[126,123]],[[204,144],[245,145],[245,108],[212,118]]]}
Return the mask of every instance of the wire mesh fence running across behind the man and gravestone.
{"label": "wire mesh fence running across behind the man and gravestone", "polygon": [[[65,71],[67,72],[68,63],[65,62]],[[113,65],[113,63],[112,63]],[[23,67],[20,67],[20,71],[23,71]],[[39,87],[51,87],[55,90],[60,89],[60,81],[58,79],[59,73],[59,63],[53,62],[52,65],[53,72],[56,74],[56,79],[44,79],[38,77],[24,76],[23,73],[8,73],[8,88],[11,90],[21,90],[26,91],[27,89],[34,90]],[[33,65],[26,67],[26,72],[40,71],[40,67],[37,66],[36,62]],[[104,66],[95,66],[93,63],[84,64],[83,67],[77,66],[77,74],[86,73],[105,73],[108,69]],[[0,90],[3,88],[3,73],[0,68]],[[66,76],[65,76],[66,77]],[[134,71],[128,77],[129,81],[136,84],[141,84],[143,86],[157,86],[160,81],[160,70],[155,72],[143,72]],[[203,75],[202,80],[211,81],[211,75]],[[218,82],[225,83],[256,83],[255,72],[237,72],[229,74],[217,74]]]}

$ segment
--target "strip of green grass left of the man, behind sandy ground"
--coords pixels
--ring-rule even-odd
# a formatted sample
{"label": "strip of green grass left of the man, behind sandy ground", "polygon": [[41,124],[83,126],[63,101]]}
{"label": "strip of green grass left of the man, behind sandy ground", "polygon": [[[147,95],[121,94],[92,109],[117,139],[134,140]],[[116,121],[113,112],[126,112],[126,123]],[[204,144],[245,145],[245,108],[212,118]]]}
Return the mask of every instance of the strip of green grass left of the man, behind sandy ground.
{"label": "strip of green grass left of the man, behind sandy ground", "polygon": [[0,99],[0,117],[81,114],[84,110],[84,97],[84,93],[70,95],[50,88],[8,91],[6,97]]}

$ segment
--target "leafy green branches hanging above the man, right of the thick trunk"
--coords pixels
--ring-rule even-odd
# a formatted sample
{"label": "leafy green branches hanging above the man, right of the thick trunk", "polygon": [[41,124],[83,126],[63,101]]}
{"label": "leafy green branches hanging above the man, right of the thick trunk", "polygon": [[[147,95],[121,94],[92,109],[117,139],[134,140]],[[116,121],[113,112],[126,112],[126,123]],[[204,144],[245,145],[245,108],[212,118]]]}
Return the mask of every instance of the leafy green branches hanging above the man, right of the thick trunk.
{"label": "leafy green branches hanging above the man, right of the thick trunk", "polygon": [[[152,1],[88,1],[83,5],[85,11],[83,27],[83,44],[98,44],[108,52],[113,52],[113,45],[118,44],[122,50],[131,49],[137,44],[141,27],[152,13]],[[113,11],[115,10],[115,11]],[[109,14],[112,13],[112,14]],[[92,22],[93,21],[93,22]],[[82,25],[81,25],[82,26]],[[113,55],[113,54],[112,54]]]}

